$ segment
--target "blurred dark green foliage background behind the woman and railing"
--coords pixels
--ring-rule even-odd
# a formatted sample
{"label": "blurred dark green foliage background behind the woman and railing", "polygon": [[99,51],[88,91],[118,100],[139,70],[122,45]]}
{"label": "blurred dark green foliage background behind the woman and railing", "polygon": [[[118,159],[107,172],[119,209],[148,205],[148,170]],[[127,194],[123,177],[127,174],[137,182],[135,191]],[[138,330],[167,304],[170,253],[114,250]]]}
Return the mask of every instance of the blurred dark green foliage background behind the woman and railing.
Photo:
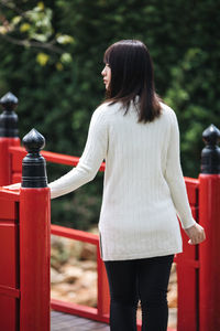
{"label": "blurred dark green foliage background behind the woman and railing", "polygon": [[[152,55],[158,95],[175,111],[184,175],[200,171],[202,131],[220,126],[219,0],[0,0],[0,96],[19,98],[20,137],[36,128],[46,150],[80,157],[103,100],[105,50],[140,39]],[[48,181],[70,168],[47,164]],[[102,174],[52,202],[52,222],[97,225]]]}

